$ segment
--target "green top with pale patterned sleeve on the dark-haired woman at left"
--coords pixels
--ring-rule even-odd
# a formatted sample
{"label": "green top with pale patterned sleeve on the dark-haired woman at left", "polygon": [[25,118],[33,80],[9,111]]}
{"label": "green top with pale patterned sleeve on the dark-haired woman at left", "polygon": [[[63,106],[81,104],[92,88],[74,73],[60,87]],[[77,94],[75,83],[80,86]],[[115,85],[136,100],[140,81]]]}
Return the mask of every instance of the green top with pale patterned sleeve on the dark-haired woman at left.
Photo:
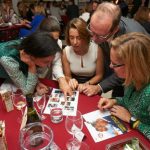
{"label": "green top with pale patterned sleeve on the dark-haired woman at left", "polygon": [[28,72],[28,65],[20,60],[20,53],[12,45],[20,40],[0,43],[0,78],[11,79],[24,94],[34,91],[38,82],[36,74]]}

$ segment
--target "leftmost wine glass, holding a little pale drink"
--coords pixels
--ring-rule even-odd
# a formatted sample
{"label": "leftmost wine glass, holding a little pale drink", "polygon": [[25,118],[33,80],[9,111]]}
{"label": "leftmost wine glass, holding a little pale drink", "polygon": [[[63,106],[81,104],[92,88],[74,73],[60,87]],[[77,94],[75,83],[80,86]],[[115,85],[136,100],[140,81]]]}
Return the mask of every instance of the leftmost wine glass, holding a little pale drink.
{"label": "leftmost wine glass, holding a little pale drink", "polygon": [[23,108],[26,106],[26,98],[21,93],[14,94],[12,93],[11,99],[13,101],[14,106],[21,110],[21,116],[23,116]]}

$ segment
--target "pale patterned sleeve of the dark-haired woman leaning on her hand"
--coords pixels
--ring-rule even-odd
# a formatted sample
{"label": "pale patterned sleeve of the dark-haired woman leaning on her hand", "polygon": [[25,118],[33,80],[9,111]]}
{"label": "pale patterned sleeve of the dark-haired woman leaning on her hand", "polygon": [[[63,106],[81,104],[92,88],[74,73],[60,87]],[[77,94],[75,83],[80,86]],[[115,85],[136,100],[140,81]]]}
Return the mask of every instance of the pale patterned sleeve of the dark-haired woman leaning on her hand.
{"label": "pale patterned sleeve of the dark-haired woman leaning on her hand", "polygon": [[28,72],[28,76],[25,77],[23,72],[19,70],[18,62],[10,57],[1,57],[0,63],[8,73],[11,80],[24,94],[34,92],[35,86],[38,82],[38,78],[35,74]]}

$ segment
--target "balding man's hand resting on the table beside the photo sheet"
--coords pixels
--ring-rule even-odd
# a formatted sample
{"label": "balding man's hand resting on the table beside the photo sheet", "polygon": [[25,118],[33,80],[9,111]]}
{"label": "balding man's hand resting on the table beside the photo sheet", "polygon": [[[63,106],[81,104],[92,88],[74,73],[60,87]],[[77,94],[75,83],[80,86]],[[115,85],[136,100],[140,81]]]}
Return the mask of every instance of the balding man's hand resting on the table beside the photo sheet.
{"label": "balding man's hand resting on the table beside the photo sheet", "polygon": [[101,92],[101,88],[99,85],[87,85],[83,90],[83,93],[87,96],[96,95]]}

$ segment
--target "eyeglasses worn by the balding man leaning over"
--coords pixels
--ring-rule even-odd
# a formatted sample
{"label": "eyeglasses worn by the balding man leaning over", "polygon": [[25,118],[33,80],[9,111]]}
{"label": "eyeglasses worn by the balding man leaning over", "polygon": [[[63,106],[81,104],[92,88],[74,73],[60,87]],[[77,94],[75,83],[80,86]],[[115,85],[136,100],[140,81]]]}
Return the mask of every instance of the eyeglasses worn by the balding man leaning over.
{"label": "eyeglasses worn by the balding man leaning over", "polygon": [[112,36],[112,32],[108,33],[107,35],[98,35],[98,34],[92,32],[90,30],[90,24],[87,25],[87,30],[89,31],[89,33],[91,34],[91,36],[96,36],[98,39],[107,40],[108,38],[110,38]]}

